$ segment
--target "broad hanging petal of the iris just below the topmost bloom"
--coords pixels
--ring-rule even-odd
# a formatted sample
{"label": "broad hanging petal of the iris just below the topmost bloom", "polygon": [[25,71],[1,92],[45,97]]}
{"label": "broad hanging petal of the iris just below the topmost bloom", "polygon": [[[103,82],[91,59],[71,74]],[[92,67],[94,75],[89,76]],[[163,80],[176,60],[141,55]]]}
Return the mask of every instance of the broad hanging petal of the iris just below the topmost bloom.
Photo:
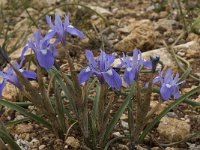
{"label": "broad hanging petal of the iris just below the topmost bloom", "polygon": [[41,67],[47,70],[51,69],[54,64],[54,57],[49,50],[46,50],[46,54],[42,53],[42,51],[37,51],[36,55],[38,63]]}

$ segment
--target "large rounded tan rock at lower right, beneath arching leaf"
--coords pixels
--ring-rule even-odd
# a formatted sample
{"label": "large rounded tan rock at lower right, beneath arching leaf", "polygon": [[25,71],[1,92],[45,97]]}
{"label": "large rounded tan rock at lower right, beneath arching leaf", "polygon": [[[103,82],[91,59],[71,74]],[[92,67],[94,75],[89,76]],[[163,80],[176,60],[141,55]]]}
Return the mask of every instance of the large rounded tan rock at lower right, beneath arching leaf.
{"label": "large rounded tan rock at lower right, beneath arching leaf", "polygon": [[190,133],[190,124],[176,118],[163,117],[157,128],[161,137],[170,142],[180,141]]}

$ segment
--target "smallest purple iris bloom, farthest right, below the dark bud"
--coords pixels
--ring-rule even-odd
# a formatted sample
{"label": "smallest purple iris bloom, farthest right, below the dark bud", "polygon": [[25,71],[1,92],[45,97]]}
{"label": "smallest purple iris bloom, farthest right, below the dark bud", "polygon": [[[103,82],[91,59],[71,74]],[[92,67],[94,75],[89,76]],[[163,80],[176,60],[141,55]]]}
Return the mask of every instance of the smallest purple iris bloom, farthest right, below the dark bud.
{"label": "smallest purple iris bloom, farthest right, below the dark bud", "polygon": [[160,82],[161,88],[160,88],[160,94],[163,100],[168,100],[171,96],[173,96],[174,99],[177,99],[180,97],[180,91],[179,91],[179,85],[182,84],[185,81],[179,81],[179,74],[176,73],[176,76],[173,77],[173,72],[169,68],[165,72],[165,76],[163,78],[163,72],[159,71],[159,76],[154,78],[153,83]]}

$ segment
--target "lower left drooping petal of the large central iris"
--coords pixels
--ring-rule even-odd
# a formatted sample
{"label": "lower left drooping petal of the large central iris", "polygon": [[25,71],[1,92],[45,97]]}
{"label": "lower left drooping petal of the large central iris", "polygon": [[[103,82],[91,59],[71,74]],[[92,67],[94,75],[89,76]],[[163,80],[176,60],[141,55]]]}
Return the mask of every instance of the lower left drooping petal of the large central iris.
{"label": "lower left drooping petal of the large central iris", "polygon": [[81,72],[78,75],[79,83],[84,83],[92,76],[92,74],[93,72],[91,71],[90,67],[86,67],[85,69],[81,70]]}

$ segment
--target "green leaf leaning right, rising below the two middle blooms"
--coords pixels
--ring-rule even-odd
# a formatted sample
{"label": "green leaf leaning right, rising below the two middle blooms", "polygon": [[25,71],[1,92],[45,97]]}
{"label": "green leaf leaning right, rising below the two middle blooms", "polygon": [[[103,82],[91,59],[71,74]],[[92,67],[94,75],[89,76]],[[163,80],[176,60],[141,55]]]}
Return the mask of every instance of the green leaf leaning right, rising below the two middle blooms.
{"label": "green leaf leaning right, rising below the two middle blooms", "polygon": [[109,124],[108,124],[108,126],[106,128],[106,131],[105,131],[105,133],[103,135],[103,140],[102,140],[103,141],[103,145],[105,145],[105,142],[106,142],[110,132],[113,130],[113,128],[115,127],[117,121],[121,117],[122,113],[125,111],[125,109],[128,106],[130,100],[133,98],[134,87],[135,87],[135,84],[132,84],[131,90],[130,90],[130,94],[126,97],[126,99],[124,100],[124,102],[122,103],[120,108],[117,110],[117,112],[113,116],[112,120],[109,122]]}

